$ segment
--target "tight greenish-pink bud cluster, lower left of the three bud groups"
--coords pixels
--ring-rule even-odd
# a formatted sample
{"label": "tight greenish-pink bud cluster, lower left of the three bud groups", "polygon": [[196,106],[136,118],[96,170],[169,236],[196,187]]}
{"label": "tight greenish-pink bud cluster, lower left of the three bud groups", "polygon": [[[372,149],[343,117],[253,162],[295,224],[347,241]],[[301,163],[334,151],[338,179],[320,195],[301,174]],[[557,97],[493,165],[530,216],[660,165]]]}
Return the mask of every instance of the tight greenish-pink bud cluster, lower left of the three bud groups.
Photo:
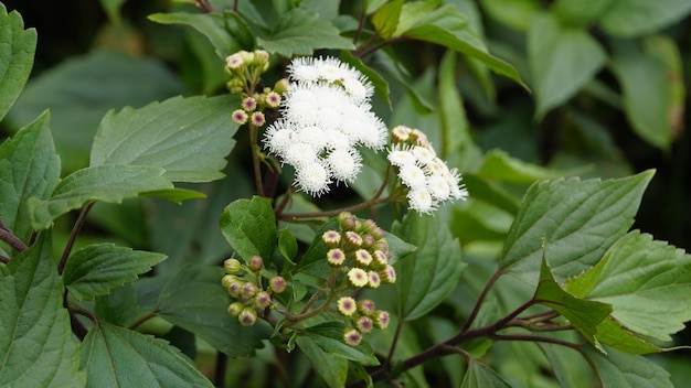
{"label": "tight greenish-pink bud cluster, lower left of the three bud groups", "polygon": [[225,276],[221,284],[235,299],[228,305],[228,314],[236,316],[243,326],[252,326],[257,320],[257,310],[272,308],[273,294],[286,290],[286,279],[276,276],[268,280],[266,289],[262,284],[259,272],[264,268],[264,260],[253,256],[247,263],[237,259],[226,259],[223,262]]}

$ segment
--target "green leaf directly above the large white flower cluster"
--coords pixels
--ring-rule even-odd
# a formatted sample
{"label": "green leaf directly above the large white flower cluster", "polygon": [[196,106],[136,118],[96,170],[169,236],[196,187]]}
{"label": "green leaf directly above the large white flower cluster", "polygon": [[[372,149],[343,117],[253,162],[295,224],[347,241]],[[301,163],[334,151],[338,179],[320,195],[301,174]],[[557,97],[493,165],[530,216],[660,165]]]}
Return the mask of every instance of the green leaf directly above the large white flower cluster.
{"label": "green leaf directly above the large white flower cluster", "polygon": [[285,57],[311,55],[317,48],[355,48],[333,24],[301,8],[283,14],[266,39],[257,36],[257,43],[268,52]]}

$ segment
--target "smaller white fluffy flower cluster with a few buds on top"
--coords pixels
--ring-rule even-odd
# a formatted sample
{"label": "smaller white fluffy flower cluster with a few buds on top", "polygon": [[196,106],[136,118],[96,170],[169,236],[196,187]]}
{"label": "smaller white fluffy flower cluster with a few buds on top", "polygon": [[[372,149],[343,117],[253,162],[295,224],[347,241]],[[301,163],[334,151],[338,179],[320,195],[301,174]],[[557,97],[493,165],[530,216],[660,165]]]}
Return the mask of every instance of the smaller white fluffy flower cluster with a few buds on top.
{"label": "smaller white fluffy flower cluster with a few buds on top", "polygon": [[408,206],[418,213],[432,213],[443,202],[466,200],[468,191],[460,174],[449,170],[437,157],[425,133],[398,126],[392,129],[393,147],[386,157],[410,190]]}

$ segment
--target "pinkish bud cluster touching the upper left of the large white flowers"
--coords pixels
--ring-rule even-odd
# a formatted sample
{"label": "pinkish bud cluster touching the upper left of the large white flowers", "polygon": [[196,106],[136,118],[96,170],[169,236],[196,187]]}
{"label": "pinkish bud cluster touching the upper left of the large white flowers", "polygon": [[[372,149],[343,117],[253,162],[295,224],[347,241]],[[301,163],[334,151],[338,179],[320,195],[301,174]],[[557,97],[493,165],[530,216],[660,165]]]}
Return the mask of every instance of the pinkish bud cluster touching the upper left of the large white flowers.
{"label": "pinkish bud cluster touching the upper left of the large white flowers", "polygon": [[240,126],[251,122],[256,127],[266,123],[264,109],[280,106],[281,96],[288,91],[288,80],[278,80],[273,88],[265,87],[256,91],[259,78],[268,69],[269,55],[264,50],[254,52],[240,51],[225,58],[225,71],[231,75],[226,87],[232,94],[240,95],[241,107],[233,111],[233,121]]}

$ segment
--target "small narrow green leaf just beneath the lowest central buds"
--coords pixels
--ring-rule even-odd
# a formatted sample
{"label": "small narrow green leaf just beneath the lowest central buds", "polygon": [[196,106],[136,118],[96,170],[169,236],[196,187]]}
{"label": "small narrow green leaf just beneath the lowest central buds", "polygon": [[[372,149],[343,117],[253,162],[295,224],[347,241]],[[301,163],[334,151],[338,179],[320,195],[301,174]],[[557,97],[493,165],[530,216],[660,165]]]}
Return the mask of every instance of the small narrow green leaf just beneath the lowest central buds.
{"label": "small narrow green leaf just beneath the lowest central buds", "polygon": [[323,352],[360,363],[365,366],[379,365],[379,359],[372,353],[370,345],[362,341],[358,346],[350,346],[343,342],[342,322],[325,322],[307,327],[302,335],[312,340]]}

